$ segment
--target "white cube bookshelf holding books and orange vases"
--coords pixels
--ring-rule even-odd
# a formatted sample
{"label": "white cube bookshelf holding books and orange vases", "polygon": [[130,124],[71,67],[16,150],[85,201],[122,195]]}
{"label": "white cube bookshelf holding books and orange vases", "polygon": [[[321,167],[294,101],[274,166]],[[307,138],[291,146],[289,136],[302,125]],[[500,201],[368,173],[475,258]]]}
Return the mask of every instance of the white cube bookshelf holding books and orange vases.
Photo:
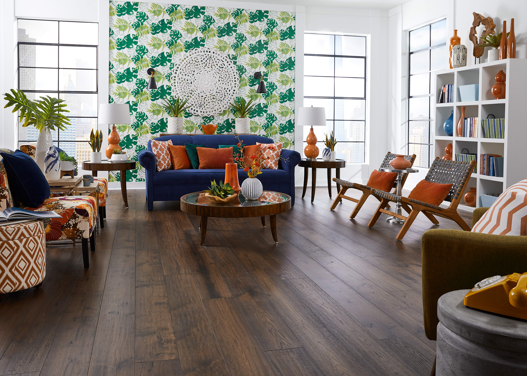
{"label": "white cube bookshelf holding books and orange vases", "polygon": [[[502,70],[506,74],[505,99],[496,100],[491,88],[496,83],[494,76]],[[436,103],[434,106],[434,126],[432,128],[432,157],[445,155],[445,147],[452,144],[452,153],[468,149],[477,154],[477,167],[471,175],[467,190],[475,187],[476,207],[480,207],[480,194],[502,193],[514,183],[527,178],[527,59],[504,59],[490,63],[464,66],[444,70],[435,76],[435,100],[439,100],[443,85],[454,85],[454,102]],[[479,101],[461,102],[458,87],[479,84]],[[461,107],[465,106],[465,117],[479,117],[478,136],[457,135],[457,122],[461,117]],[[443,123],[454,111],[454,134],[447,136]],[[493,114],[505,118],[505,138],[485,138],[481,119]],[[480,175],[480,155],[500,154],[504,157],[503,177]],[[449,205],[450,202],[444,202]],[[475,208],[463,201],[459,209],[473,211]]]}

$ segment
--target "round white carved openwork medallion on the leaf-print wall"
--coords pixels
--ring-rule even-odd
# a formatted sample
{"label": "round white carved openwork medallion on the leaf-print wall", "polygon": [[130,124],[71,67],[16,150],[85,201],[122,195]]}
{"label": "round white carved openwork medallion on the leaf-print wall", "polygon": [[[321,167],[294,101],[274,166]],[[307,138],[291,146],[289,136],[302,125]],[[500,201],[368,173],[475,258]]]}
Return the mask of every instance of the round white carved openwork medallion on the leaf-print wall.
{"label": "round white carved openwork medallion on the leaf-print wall", "polygon": [[188,99],[188,112],[197,116],[218,115],[235,100],[240,77],[223,53],[208,47],[190,51],[175,64],[172,93]]}

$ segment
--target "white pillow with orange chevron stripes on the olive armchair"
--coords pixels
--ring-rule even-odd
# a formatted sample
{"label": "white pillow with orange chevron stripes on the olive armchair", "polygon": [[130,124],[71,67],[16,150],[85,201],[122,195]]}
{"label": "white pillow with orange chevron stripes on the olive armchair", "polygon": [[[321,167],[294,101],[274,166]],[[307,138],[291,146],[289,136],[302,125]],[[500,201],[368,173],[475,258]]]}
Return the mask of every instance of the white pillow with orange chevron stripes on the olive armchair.
{"label": "white pillow with orange chevron stripes on the olive armchair", "polygon": [[505,190],[472,227],[472,232],[527,235],[527,179]]}

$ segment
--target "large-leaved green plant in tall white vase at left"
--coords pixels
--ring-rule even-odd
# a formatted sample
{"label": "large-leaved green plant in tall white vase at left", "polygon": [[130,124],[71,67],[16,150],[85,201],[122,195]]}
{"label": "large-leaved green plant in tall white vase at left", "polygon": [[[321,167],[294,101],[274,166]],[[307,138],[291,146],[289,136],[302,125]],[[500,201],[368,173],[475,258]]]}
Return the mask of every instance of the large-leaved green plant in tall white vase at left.
{"label": "large-leaved green plant in tall white vase at left", "polygon": [[40,133],[36,142],[35,162],[45,173],[44,158],[46,153],[53,146],[51,131],[60,129],[66,130],[67,125],[71,125],[70,119],[63,115],[65,110],[64,100],[41,96],[40,100],[30,100],[21,90],[11,89],[11,93],[5,93],[4,99],[7,104],[4,108],[14,106],[13,112],[20,111],[20,122],[23,127],[33,125]]}

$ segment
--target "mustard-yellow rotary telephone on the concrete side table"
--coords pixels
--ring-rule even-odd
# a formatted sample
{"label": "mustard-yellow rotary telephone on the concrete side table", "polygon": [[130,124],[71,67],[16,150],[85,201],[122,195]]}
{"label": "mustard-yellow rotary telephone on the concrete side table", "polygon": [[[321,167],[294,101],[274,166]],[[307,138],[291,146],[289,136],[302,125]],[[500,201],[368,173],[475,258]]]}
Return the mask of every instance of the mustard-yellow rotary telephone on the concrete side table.
{"label": "mustard-yellow rotary telephone on the concrete side table", "polygon": [[470,308],[527,320],[527,272],[495,275],[475,284],[465,295]]}

